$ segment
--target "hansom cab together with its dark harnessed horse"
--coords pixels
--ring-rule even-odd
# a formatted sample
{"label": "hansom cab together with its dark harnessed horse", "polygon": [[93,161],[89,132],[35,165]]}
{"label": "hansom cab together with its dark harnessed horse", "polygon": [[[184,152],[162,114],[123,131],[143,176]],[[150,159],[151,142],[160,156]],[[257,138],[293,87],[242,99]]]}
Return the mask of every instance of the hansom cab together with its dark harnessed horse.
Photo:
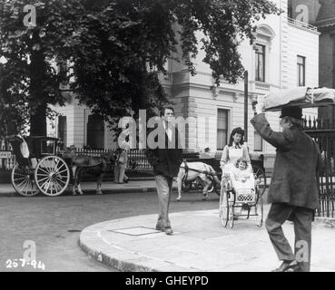
{"label": "hansom cab together with its dark harnessed horse", "polygon": [[73,195],[77,191],[83,194],[80,181],[85,172],[94,174],[96,194],[103,194],[103,175],[114,162],[112,153],[93,157],[76,155],[71,149],[58,150],[58,139],[44,136],[11,135],[7,139],[16,158],[11,181],[18,194],[32,197],[42,192],[55,197],[68,188],[72,188]]}

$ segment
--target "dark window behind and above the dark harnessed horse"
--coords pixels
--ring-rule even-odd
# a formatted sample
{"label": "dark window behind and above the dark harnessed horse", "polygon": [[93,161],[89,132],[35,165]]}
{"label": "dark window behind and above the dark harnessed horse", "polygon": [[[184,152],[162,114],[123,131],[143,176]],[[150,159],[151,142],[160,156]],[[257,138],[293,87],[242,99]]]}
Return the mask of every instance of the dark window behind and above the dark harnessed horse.
{"label": "dark window behind and above the dark harnessed horse", "polygon": [[87,122],[87,142],[90,149],[104,148],[104,121],[103,117],[89,115]]}

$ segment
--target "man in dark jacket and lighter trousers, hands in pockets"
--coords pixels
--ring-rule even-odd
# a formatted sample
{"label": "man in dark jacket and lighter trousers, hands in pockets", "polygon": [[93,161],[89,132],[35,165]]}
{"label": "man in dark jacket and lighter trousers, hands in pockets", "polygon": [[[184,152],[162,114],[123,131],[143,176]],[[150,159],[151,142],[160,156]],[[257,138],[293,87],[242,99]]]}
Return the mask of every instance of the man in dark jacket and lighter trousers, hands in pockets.
{"label": "man in dark jacket and lighter trousers, hands in pockets", "polygon": [[[158,194],[159,215],[156,229],[172,235],[169,219],[169,205],[172,194],[173,177],[177,176],[182,164],[182,146],[177,128],[172,119],[172,107],[165,107],[161,113],[162,122],[158,124],[158,147],[146,150],[146,157],[153,166],[153,175],[156,180]],[[163,139],[163,140],[162,140]]]}

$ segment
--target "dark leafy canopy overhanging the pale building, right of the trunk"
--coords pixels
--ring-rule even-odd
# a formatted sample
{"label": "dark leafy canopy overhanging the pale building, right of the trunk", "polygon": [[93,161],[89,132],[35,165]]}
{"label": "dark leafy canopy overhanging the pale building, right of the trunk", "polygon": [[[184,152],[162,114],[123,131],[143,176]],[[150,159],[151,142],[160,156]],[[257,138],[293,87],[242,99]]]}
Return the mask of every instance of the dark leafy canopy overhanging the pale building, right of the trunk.
{"label": "dark leafy canopy overhanging the pale building, right of the trunk", "polygon": [[[235,83],[244,69],[238,46],[254,39],[255,22],[280,11],[267,0],[106,0],[86,1],[81,31],[74,36],[72,62],[77,98],[115,124],[133,111],[167,102],[158,73],[176,51],[192,74],[198,53],[197,31],[217,84]],[[175,30],[175,24],[181,29]]]}

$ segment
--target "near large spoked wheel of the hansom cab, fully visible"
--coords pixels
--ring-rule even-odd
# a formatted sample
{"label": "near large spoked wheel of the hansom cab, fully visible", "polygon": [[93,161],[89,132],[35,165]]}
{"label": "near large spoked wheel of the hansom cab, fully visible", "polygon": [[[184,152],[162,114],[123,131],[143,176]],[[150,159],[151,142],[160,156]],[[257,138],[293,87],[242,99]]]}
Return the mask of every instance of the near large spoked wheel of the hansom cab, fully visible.
{"label": "near large spoked wheel of the hansom cab, fully visible", "polygon": [[38,162],[34,170],[34,180],[45,195],[59,196],[69,185],[70,170],[61,158],[47,156]]}

